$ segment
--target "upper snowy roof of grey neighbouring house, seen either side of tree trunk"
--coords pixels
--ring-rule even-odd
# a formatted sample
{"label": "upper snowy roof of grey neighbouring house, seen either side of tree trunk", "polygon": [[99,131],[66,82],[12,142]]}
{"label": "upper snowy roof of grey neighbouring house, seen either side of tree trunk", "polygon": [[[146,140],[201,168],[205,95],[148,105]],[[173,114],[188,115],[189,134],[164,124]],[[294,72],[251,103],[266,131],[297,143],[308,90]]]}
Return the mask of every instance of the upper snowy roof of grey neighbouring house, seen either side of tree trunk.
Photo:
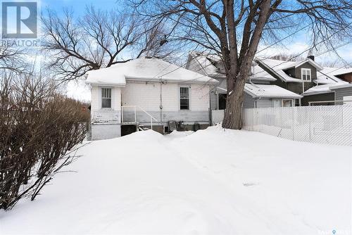
{"label": "upper snowy roof of grey neighbouring house, seen either side of tree trunk", "polygon": [[[226,78],[221,58],[215,54],[192,51],[189,53],[186,68],[210,77]],[[257,73],[260,74],[256,75]],[[257,63],[253,63],[249,79],[256,81],[276,81],[275,77],[265,72]]]}

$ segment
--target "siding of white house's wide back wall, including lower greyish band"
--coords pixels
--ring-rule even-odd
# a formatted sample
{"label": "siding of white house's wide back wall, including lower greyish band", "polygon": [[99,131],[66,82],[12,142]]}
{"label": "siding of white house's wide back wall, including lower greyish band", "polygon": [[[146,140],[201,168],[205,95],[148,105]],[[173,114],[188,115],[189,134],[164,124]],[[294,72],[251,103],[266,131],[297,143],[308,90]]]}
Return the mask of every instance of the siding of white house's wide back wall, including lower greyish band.
{"label": "siding of white house's wide back wall, including lower greyish band", "polygon": [[[189,110],[180,110],[180,87],[189,89]],[[165,125],[169,120],[181,121],[187,124],[199,122],[209,123],[209,85],[206,84],[176,84],[159,82],[128,82],[122,89],[122,106],[139,106],[146,110],[159,124]],[[161,101],[162,92],[162,101]],[[162,109],[161,109],[162,104]],[[134,119],[133,110],[124,110],[125,120]],[[137,120],[141,124],[150,124],[149,115],[137,111]]]}

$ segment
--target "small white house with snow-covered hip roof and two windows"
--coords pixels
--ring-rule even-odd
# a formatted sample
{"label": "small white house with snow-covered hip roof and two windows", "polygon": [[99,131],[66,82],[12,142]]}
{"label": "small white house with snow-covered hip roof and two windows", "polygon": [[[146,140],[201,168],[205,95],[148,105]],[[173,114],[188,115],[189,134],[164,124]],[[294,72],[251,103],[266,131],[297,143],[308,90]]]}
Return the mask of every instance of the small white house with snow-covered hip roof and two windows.
{"label": "small white house with snow-covered hip roof and two windows", "polygon": [[88,72],[91,138],[108,139],[142,128],[168,131],[209,125],[209,91],[218,81],[158,58],[144,57]]}

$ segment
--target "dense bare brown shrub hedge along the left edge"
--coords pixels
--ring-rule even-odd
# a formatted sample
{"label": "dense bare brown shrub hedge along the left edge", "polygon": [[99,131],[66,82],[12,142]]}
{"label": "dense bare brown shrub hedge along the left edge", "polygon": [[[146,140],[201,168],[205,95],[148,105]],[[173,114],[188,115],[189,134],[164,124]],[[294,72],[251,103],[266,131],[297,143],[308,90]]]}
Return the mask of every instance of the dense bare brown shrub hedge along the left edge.
{"label": "dense bare brown shrub hedge along the left edge", "polygon": [[52,80],[4,73],[0,82],[0,209],[31,200],[75,160],[87,132],[82,103],[56,92]]}

